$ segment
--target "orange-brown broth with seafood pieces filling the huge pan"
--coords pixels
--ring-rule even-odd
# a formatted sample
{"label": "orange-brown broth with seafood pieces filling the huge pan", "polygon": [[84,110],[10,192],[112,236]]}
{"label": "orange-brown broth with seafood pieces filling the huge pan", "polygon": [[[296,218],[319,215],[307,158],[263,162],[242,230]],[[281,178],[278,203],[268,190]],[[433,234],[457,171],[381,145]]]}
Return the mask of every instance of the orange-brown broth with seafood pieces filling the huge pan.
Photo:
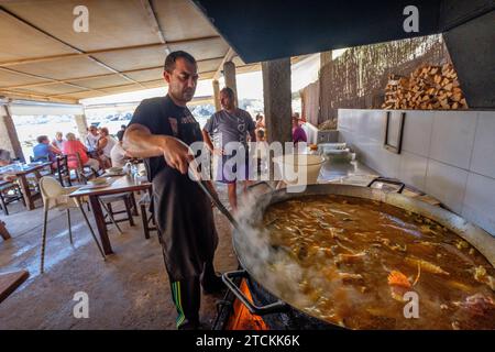
{"label": "orange-brown broth with seafood pieces filling the huge pan", "polygon": [[350,329],[495,329],[494,267],[425,217],[308,196],[272,205],[263,223],[272,246],[302,268],[310,305],[297,308],[310,315]]}

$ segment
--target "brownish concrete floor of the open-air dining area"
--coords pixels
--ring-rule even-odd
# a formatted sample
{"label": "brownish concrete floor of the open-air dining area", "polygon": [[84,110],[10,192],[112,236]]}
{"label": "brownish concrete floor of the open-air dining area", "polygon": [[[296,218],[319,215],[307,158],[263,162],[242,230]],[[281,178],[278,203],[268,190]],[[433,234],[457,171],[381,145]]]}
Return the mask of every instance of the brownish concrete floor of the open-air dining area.
{"label": "brownish concrete floor of the open-air dining area", "polygon": [[[227,205],[226,189],[220,187],[219,194]],[[0,272],[25,268],[31,276],[0,304],[0,329],[175,329],[176,311],[156,232],[145,240],[141,218],[134,218],[135,227],[121,222],[123,234],[110,227],[116,254],[103,262],[78,210],[73,211],[74,246],[65,212],[52,211],[45,273],[40,274],[42,204],[38,200],[32,211],[21,204],[9,210],[9,217],[0,216],[12,235],[9,241],[0,239]],[[216,268],[234,270],[230,226],[218,210],[216,222],[220,239]],[[77,292],[88,294],[87,319],[73,315]],[[217,299],[202,296],[200,317],[206,326],[215,319]]]}

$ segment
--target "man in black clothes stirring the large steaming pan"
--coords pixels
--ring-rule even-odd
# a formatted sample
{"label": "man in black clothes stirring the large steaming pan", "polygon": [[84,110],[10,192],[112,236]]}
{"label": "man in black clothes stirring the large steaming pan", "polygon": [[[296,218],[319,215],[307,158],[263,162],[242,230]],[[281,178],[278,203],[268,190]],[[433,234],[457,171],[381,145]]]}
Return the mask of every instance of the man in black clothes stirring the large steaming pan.
{"label": "man in black clothes stirring the large steaming pan", "polygon": [[[196,91],[198,66],[186,52],[173,52],[164,65],[168,94],[143,100],[124,133],[124,148],[145,158],[153,183],[153,206],[178,329],[198,329],[200,287],[219,293],[224,286],[215,273],[218,244],[211,201],[187,175],[194,142],[201,130],[186,105]],[[215,191],[211,184],[208,184]]]}

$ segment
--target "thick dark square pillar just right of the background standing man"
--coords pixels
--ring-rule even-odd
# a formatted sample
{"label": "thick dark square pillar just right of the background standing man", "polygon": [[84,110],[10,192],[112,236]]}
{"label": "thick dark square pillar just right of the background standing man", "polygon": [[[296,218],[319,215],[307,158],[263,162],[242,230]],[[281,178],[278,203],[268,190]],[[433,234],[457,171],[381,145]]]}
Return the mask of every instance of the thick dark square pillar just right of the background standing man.
{"label": "thick dark square pillar just right of the background standing man", "polygon": [[262,63],[268,143],[292,141],[290,58]]}

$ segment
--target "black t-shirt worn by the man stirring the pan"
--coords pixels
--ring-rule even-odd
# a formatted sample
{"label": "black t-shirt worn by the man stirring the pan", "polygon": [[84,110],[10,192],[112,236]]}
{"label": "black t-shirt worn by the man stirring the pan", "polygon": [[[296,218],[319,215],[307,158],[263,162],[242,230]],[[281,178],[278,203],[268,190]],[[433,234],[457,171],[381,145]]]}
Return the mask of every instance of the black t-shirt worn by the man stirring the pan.
{"label": "black t-shirt worn by the man stirring the pan", "polygon": [[[199,123],[189,109],[175,105],[168,95],[143,100],[129,125],[133,123],[145,125],[152,134],[175,136],[187,145],[202,141]],[[168,167],[163,156],[151,157],[145,162],[150,180],[164,167]]]}

